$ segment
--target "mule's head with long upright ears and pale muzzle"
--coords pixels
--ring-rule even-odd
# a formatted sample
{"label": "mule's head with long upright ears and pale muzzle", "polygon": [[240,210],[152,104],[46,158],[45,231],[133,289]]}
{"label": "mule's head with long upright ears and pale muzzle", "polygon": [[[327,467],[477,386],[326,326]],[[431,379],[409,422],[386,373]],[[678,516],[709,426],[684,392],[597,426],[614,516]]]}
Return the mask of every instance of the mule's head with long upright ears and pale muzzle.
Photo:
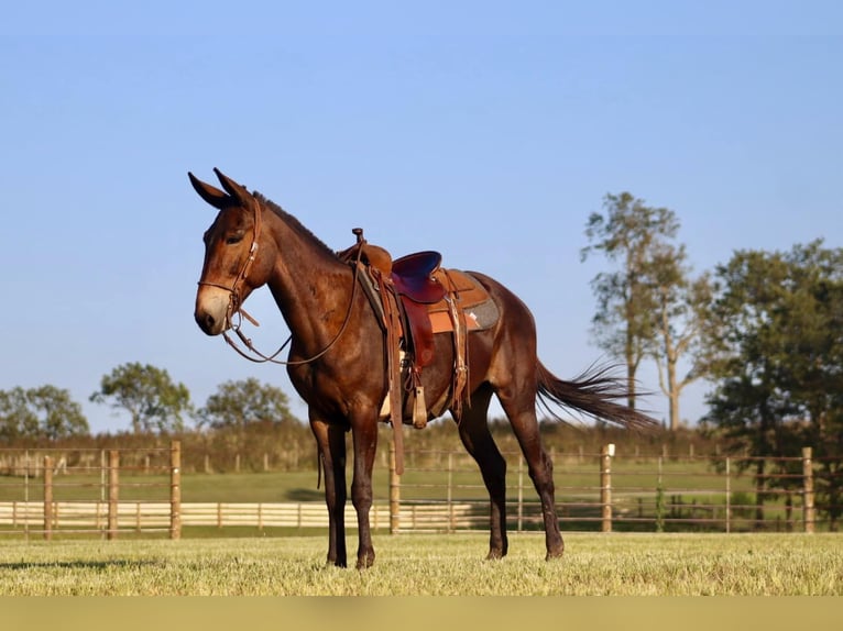
{"label": "mule's head with long upright ears and pale muzzle", "polygon": [[196,292],[194,317],[208,335],[219,335],[253,289],[266,280],[258,261],[261,204],[243,186],[214,169],[220,190],[193,174],[196,192],[219,213],[205,232],[205,264]]}

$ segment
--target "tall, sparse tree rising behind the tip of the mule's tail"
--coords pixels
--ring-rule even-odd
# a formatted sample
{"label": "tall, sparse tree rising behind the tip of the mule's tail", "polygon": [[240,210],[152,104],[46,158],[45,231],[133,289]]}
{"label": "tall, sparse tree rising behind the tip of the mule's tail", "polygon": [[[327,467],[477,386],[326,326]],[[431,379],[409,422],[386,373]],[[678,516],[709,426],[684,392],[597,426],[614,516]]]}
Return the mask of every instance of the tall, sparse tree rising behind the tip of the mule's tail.
{"label": "tall, sparse tree rising behind the tip of the mule's tail", "polygon": [[617,269],[600,273],[592,280],[598,299],[593,333],[601,348],[623,358],[628,405],[635,408],[635,376],[656,336],[653,261],[658,248],[676,237],[679,221],[674,211],[646,206],[629,192],[606,195],[603,210],[605,214],[589,217],[585,236],[590,244],[582,248],[581,257],[584,261],[602,252]]}

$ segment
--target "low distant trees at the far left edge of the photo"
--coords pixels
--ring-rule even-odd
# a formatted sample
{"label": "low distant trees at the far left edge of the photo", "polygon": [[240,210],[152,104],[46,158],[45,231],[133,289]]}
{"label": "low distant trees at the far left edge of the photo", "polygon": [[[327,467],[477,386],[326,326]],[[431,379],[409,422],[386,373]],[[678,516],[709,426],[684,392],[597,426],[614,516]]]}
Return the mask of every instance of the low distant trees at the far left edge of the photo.
{"label": "low distant trees at the far left edge of the photo", "polygon": [[88,421],[70,394],[55,386],[0,390],[0,439],[58,440],[88,435]]}

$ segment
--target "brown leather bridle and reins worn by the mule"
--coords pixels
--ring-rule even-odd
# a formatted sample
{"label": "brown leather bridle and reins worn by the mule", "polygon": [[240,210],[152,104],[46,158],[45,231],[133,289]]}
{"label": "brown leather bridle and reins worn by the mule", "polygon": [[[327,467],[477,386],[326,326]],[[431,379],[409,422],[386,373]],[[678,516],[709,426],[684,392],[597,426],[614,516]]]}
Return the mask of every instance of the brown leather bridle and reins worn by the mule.
{"label": "brown leather bridle and reins worn by the mule", "polygon": [[[245,283],[247,277],[249,276],[249,272],[252,268],[252,264],[254,263],[255,257],[258,256],[258,244],[259,240],[261,237],[261,209],[260,203],[258,200],[254,200],[254,229],[252,231],[252,243],[249,246],[249,256],[247,257],[245,262],[243,263],[243,266],[240,268],[240,272],[238,273],[237,277],[234,277],[233,283],[230,287],[227,287],[225,285],[221,285],[219,283],[210,283],[208,280],[199,280],[198,285],[207,286],[207,287],[217,287],[218,289],[222,289],[225,291],[228,291],[229,295],[229,301],[228,301],[228,308],[226,309],[226,322],[225,326],[222,329],[222,337],[226,340],[229,346],[231,346],[234,351],[238,352],[238,354],[250,362],[254,362],[256,364],[263,364],[266,362],[270,362],[272,364],[280,364],[282,366],[297,366],[302,364],[309,364],[310,362],[315,362],[322,355],[325,355],[330,348],[333,346],[333,344],[342,336],[342,333],[344,333],[346,328],[348,326],[349,320],[351,320],[351,310],[354,306],[354,298],[357,298],[357,286],[358,286],[358,272],[360,269],[360,252],[357,253],[357,257],[354,259],[354,270],[353,270],[353,280],[352,280],[352,288],[351,288],[351,299],[349,300],[349,308],[346,312],[346,319],[342,321],[342,326],[340,326],[340,330],[337,332],[337,334],[333,336],[333,339],[328,343],[328,345],[319,351],[317,354],[315,354],[311,357],[308,357],[307,359],[296,359],[296,361],[282,361],[276,359],[281,352],[289,344],[289,342],[293,340],[293,334],[291,333],[289,336],[286,339],[286,341],[278,347],[277,351],[275,351],[272,355],[264,355],[258,348],[254,347],[252,344],[252,340],[250,337],[247,337],[245,334],[242,331],[242,324],[243,324],[243,318],[249,320],[253,325],[260,326],[261,324],[252,318],[245,309],[243,309],[243,301],[240,299],[240,288]],[[234,322],[234,316],[237,316],[237,322]],[[243,351],[234,340],[231,339],[229,335],[229,329],[232,330],[237,336],[240,339],[242,344],[247,347],[247,351]],[[252,353],[253,355],[256,355],[256,357],[250,355],[249,353]]]}

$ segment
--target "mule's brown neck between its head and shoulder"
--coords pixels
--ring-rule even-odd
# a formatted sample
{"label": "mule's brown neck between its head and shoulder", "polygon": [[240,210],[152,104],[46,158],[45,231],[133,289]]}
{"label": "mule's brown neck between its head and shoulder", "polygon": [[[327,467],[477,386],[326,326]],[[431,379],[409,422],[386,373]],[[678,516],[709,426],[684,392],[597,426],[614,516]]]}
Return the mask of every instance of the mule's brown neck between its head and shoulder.
{"label": "mule's brown neck between its head and shoulder", "polygon": [[315,236],[271,210],[266,213],[272,214],[265,223],[278,253],[267,286],[294,344],[313,352],[306,346],[324,346],[341,325],[351,300],[353,274]]}

